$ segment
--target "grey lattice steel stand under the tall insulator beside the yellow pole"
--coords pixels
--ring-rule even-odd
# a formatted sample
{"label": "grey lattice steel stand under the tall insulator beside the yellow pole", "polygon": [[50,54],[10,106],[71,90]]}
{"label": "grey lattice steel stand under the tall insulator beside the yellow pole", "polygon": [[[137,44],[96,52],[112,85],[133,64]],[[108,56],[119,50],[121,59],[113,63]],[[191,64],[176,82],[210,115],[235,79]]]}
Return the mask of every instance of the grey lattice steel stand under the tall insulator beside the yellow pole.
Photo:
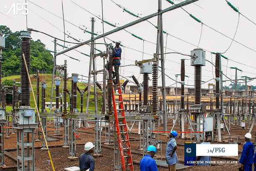
{"label": "grey lattice steel stand under the tall insulator beside the yellow pole", "polygon": [[17,129],[17,169],[18,171],[35,170],[33,128]]}

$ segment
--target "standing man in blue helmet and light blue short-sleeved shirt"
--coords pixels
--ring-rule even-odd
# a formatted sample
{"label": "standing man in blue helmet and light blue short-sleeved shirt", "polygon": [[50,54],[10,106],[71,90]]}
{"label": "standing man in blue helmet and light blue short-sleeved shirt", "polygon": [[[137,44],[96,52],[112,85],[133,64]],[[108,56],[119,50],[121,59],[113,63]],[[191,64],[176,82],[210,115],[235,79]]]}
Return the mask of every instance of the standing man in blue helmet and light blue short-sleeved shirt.
{"label": "standing man in blue helmet and light blue short-sleeved shirt", "polygon": [[178,157],[176,154],[177,144],[175,137],[178,135],[176,131],[171,131],[169,134],[169,141],[166,145],[165,157],[168,164],[169,171],[176,171],[176,163],[178,163]]}

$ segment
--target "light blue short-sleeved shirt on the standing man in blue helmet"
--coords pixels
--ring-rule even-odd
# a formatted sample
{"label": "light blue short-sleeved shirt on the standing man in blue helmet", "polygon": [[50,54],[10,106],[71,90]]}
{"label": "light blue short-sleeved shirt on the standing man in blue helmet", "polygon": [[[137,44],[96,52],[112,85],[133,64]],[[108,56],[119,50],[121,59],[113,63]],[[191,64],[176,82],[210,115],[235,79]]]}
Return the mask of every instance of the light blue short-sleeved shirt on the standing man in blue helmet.
{"label": "light blue short-sleeved shirt on the standing man in blue helmet", "polygon": [[177,157],[176,151],[173,153],[172,157],[170,156],[175,146],[177,146],[175,138],[170,138],[166,145],[166,151],[165,151],[165,157],[168,165],[173,165],[175,163],[178,163],[178,157]]}

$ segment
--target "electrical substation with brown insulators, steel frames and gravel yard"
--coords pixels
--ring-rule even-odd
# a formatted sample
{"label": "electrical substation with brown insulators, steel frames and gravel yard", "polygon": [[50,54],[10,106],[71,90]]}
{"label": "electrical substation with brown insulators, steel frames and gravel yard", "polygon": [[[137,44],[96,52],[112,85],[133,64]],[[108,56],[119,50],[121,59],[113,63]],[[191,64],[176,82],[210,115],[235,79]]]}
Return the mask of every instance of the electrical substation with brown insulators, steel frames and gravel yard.
{"label": "electrical substation with brown insulators, steel frames and gravel yard", "polygon": [[[96,20],[91,18],[91,39],[59,53],[56,46],[57,41],[61,40],[54,38],[51,80],[44,79],[39,70],[31,73],[30,41],[33,33],[41,34],[42,30],[28,28],[27,31],[20,31],[21,79],[20,82],[13,80],[12,87],[2,84],[1,60],[6,38],[0,31],[0,169],[55,171],[54,167],[57,165],[57,168],[61,168],[59,170],[77,171],[79,156],[84,153],[83,146],[91,141],[95,145],[92,154],[96,162],[95,171],[138,171],[140,158],[147,154],[147,147],[150,145],[156,147],[158,153],[154,159],[159,171],[163,171],[168,169],[165,148],[169,133],[173,130],[178,132],[177,171],[192,169],[192,166],[184,166],[184,142],[227,143],[242,147],[244,134],[249,132],[252,133],[251,142],[256,145],[256,91],[247,85],[254,78],[245,76],[238,79],[239,69],[233,68],[236,78],[230,81],[234,81],[235,90],[224,90],[225,75],[221,61],[226,57],[222,53],[211,52],[215,58],[215,63],[212,63],[207,60],[210,58],[207,50],[198,47],[191,49],[185,55],[186,58],[180,58],[180,73],[175,74],[176,87],[165,86],[165,80],[170,78],[165,74],[165,68],[171,66],[165,66],[164,62],[166,49],[164,50],[163,43],[162,15],[196,1],[198,0],[186,0],[161,10],[161,0],[158,0],[160,10],[157,13],[103,35],[94,33]],[[156,52],[151,54],[152,58],[132,61],[137,67],[136,72],[143,76],[142,82],[131,74],[130,80],[120,76],[117,83],[113,75],[113,48],[116,42],[110,42],[109,39],[108,43],[103,43],[102,38],[105,41],[104,36],[155,16],[158,17],[158,25],[155,26]],[[201,22],[193,15],[191,17]],[[95,41],[98,39],[105,45],[105,49],[96,53]],[[69,68],[75,66],[67,60],[57,65],[57,56],[72,52],[85,44],[91,46],[89,68],[84,68],[88,77],[85,78],[86,83],[80,84],[83,73],[68,73]],[[103,66],[99,70],[96,69],[98,58]],[[185,78],[188,76],[185,66],[188,65],[194,67],[194,88],[186,86]],[[212,65],[214,83],[209,83],[208,88],[203,89],[202,67],[211,68]],[[179,75],[180,82],[177,81]],[[102,81],[98,81],[100,79]],[[238,80],[245,81],[245,90],[238,91]],[[47,92],[47,86],[51,86],[50,93]],[[49,94],[50,102],[46,100]],[[6,111],[7,95],[12,97],[11,111]],[[31,101],[34,101],[35,106],[31,106]],[[93,110],[89,106],[93,106]],[[16,137],[16,148],[6,149],[4,144],[10,143],[13,136]],[[241,153],[241,149],[239,148],[238,153]],[[8,165],[11,162],[5,163],[6,158],[16,164]],[[215,158],[224,160],[225,157]],[[239,157],[230,156],[225,160],[239,161]]]}

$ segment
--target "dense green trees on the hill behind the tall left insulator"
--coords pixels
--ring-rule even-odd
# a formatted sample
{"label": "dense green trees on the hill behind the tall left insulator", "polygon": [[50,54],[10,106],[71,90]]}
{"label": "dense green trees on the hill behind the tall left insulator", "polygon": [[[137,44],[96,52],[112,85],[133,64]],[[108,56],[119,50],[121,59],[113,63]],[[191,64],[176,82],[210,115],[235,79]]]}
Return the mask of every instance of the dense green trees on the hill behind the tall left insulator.
{"label": "dense green trees on the hill behind the tall left insulator", "polygon": [[[5,75],[11,75],[14,72],[20,72],[21,58],[21,38],[20,32],[12,33],[10,28],[5,25],[0,26],[0,30],[5,34],[5,49],[2,57],[2,70]],[[30,40],[31,43],[31,73],[36,70],[46,70],[52,72],[53,56],[45,49],[41,40]]]}

